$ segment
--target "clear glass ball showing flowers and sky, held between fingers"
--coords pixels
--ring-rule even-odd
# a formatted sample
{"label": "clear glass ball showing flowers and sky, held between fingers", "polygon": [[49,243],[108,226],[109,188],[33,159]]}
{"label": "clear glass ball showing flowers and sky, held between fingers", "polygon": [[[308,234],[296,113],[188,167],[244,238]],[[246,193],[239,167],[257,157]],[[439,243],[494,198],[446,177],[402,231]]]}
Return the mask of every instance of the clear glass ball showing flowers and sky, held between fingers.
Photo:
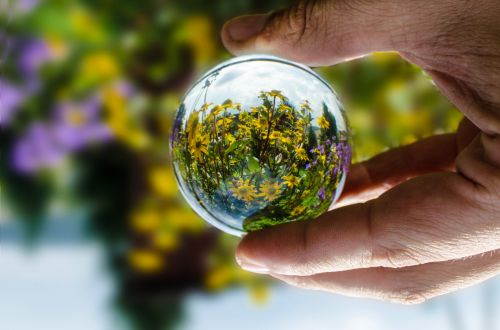
{"label": "clear glass ball showing flowers and sky, held between fingers", "polygon": [[320,76],[250,55],[218,65],[187,92],[170,147],[189,205],[241,236],[326,212],[344,186],[349,140],[343,107]]}

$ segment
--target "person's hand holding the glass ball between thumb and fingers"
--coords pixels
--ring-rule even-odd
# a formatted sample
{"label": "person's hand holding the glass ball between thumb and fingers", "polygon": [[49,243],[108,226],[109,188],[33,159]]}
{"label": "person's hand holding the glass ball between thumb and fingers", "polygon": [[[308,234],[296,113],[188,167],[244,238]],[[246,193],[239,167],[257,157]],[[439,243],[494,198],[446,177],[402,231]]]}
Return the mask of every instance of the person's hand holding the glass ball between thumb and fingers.
{"label": "person's hand holding the glass ball between thumb and fingers", "polygon": [[248,234],[239,264],[299,287],[402,303],[498,275],[499,17],[498,0],[304,0],[226,23],[223,42],[238,55],[318,66],[398,51],[467,118],[457,134],[355,165],[341,201],[351,205]]}

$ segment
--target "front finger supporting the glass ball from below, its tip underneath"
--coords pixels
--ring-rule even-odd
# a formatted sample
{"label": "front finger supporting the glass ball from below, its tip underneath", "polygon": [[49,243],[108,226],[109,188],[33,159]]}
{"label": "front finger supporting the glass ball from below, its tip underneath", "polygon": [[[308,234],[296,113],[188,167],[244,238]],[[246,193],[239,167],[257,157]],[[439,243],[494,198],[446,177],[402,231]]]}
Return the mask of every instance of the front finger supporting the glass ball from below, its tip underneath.
{"label": "front finger supporting the glass ball from below, its tip underneath", "polygon": [[250,233],[237,260],[249,271],[311,275],[492,251],[500,248],[499,210],[481,204],[481,194],[457,173],[418,177],[368,203]]}

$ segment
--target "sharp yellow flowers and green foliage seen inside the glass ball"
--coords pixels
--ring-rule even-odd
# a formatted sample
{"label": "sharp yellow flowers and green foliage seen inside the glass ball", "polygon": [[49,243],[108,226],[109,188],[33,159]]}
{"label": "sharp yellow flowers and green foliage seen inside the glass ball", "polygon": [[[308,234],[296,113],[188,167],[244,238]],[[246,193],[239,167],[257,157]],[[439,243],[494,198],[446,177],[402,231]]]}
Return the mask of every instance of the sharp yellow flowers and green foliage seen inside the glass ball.
{"label": "sharp yellow flowers and green foliage seen inside the glass ball", "polygon": [[318,116],[281,91],[259,99],[249,109],[203,104],[178,118],[172,136],[180,176],[199,203],[239,217],[248,231],[326,211],[350,162],[347,136],[325,104]]}

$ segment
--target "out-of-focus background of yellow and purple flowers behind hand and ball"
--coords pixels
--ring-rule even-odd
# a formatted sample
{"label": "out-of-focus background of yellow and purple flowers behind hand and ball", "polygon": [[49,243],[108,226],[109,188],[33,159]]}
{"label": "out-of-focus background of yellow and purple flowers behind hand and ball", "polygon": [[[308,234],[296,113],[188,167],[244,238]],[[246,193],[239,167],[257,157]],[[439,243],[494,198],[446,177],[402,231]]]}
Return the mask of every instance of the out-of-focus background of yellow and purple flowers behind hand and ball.
{"label": "out-of-focus background of yellow and purple flowers behind hand and ball", "polygon": [[[1,329],[500,329],[498,279],[413,307],[301,291],[241,271],[183,202],[180,97],[230,58],[225,20],[287,3],[0,0]],[[317,71],[355,161],[461,119],[397,54]]]}

